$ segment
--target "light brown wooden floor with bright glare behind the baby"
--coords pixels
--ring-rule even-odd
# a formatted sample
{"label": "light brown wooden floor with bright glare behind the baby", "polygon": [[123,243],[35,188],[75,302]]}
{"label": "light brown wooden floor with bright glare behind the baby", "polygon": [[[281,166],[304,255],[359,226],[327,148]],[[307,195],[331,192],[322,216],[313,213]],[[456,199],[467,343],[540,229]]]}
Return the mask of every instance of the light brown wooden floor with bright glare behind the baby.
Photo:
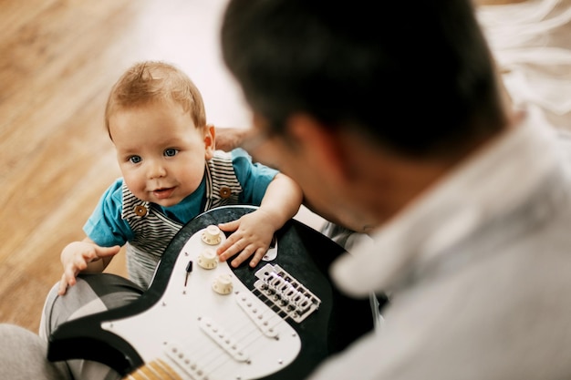
{"label": "light brown wooden floor with bright glare behind the baby", "polygon": [[[0,2],[0,323],[36,331],[59,253],[119,176],[109,88],[140,59],[182,67],[208,121],[248,115],[218,52],[224,0]],[[110,272],[124,273],[124,262]]]}

